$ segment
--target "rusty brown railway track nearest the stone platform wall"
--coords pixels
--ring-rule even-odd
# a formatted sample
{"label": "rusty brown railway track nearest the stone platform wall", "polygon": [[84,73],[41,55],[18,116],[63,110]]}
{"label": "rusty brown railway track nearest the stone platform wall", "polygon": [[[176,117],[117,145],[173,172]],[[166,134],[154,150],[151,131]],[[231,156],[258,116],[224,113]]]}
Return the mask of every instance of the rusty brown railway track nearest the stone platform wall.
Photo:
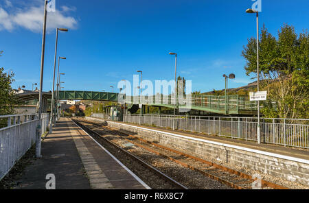
{"label": "rusty brown railway track nearest the stone platform wall", "polygon": [[[163,158],[172,160],[183,167],[197,171],[198,173],[203,174],[203,176],[222,182],[233,189],[252,189],[253,182],[258,181],[247,174],[211,163],[195,156],[191,156],[190,154],[185,154],[183,152],[171,149],[170,147],[152,143],[145,139],[141,139],[139,136],[129,134],[128,132],[123,132],[121,130],[119,131],[108,126],[102,126],[88,120],[84,120],[83,122],[95,126],[96,128],[104,128],[106,132],[115,134],[115,136],[119,136],[133,145],[148,150],[149,152],[157,154]],[[262,189],[288,189],[265,180],[260,180],[260,184]]]}

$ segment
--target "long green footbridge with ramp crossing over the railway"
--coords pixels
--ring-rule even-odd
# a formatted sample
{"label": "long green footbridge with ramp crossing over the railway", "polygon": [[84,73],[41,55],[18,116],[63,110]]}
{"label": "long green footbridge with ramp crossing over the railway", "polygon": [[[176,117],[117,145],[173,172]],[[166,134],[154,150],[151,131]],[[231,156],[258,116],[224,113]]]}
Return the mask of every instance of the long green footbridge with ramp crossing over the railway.
{"label": "long green footbridge with ramp crossing over the railway", "polygon": [[[118,97],[122,97],[128,104],[128,111],[137,112],[139,104],[148,106],[174,108],[174,99],[171,95],[163,97],[145,97],[139,100],[139,97],[119,95],[118,93],[92,92],[92,91],[59,91],[60,100],[94,100],[94,101],[118,101]],[[161,97],[161,98],[160,98]],[[159,99],[158,99],[159,98]],[[178,108],[187,108],[178,105]],[[256,115],[257,102],[249,101],[249,97],[240,97],[239,95],[216,96],[216,95],[192,95],[192,110],[201,110],[225,115]]]}

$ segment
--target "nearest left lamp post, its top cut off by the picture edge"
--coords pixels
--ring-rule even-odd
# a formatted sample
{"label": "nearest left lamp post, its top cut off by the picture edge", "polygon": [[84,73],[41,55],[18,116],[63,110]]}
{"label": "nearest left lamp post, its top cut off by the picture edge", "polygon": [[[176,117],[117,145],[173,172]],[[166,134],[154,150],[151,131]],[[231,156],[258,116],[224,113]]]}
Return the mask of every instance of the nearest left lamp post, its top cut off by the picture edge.
{"label": "nearest left lamp post, its top cut off by the picture edge", "polygon": [[43,71],[44,71],[44,55],[45,55],[45,34],[46,34],[46,19],[47,19],[47,0],[44,5],[43,19],[43,37],[42,37],[42,53],[41,53],[41,75],[40,75],[40,91],[38,95],[38,126],[36,128],[36,157],[41,157],[41,134],[42,134],[42,91],[43,91]]}

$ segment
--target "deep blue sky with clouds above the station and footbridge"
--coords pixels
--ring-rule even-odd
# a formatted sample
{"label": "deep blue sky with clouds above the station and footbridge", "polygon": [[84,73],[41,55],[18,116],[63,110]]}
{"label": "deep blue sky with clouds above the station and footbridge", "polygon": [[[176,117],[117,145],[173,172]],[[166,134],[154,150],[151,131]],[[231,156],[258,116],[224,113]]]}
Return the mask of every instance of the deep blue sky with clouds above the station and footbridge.
{"label": "deep blue sky with clouds above the station and footbridge", "polygon": [[[256,36],[251,0],[55,0],[49,12],[43,90],[52,89],[56,27],[58,54],[65,90],[111,91],[109,86],[133,81],[138,69],[143,80],[192,80],[192,91],[225,87],[223,74],[235,73],[229,87],[251,82],[244,71],[242,46]],[[39,83],[43,0],[0,1],[0,67],[15,73],[13,88]],[[260,27],[277,35],[284,24],[297,33],[308,29],[308,0],[262,0]],[[115,88],[114,88],[115,89]]]}

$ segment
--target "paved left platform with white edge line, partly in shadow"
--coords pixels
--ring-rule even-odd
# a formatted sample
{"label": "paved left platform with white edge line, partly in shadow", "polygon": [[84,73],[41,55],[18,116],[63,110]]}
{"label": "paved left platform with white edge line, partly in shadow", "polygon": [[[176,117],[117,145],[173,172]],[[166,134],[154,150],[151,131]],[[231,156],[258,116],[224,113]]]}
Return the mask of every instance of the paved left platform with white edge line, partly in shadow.
{"label": "paved left platform with white edge line, partly in shadow", "polygon": [[56,123],[41,154],[25,168],[15,189],[46,189],[52,180],[47,174],[54,174],[56,189],[150,189],[71,119]]}

